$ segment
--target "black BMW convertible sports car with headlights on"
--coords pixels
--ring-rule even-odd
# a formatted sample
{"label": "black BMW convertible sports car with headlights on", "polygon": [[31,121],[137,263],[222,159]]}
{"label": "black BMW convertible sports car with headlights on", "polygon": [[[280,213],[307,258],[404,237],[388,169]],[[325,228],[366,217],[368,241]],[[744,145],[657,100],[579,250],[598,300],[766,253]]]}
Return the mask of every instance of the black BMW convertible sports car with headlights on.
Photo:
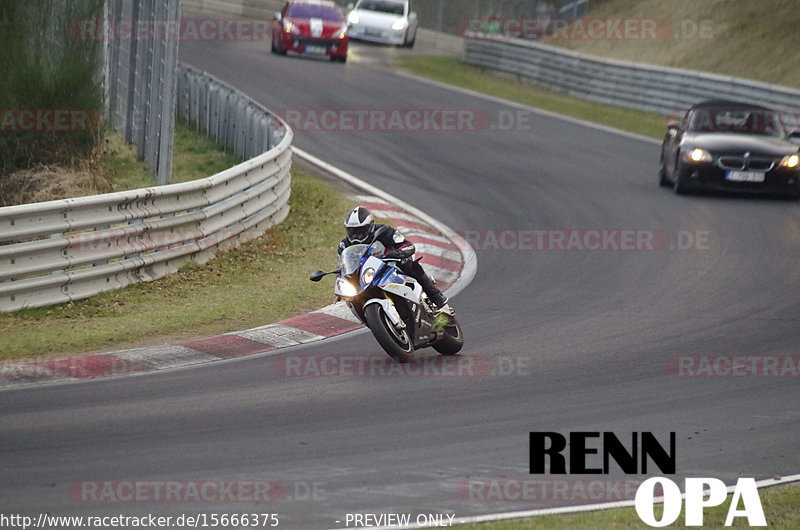
{"label": "black BMW convertible sports car with headlights on", "polygon": [[711,189],[800,198],[800,131],[772,109],[710,100],[670,122],[659,183],[676,193]]}

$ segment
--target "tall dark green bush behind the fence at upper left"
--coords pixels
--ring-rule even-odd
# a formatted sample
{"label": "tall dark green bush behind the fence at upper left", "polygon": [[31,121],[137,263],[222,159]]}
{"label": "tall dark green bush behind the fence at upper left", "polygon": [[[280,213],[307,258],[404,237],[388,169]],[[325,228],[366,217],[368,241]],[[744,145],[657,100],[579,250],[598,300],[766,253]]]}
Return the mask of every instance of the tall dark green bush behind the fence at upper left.
{"label": "tall dark green bush behind the fence at upper left", "polygon": [[[0,179],[39,165],[72,166],[100,137],[100,43],[70,35],[70,24],[102,16],[103,0],[0,2]],[[71,132],[20,131],[20,112],[85,113]],[[52,115],[51,115],[52,117]]]}

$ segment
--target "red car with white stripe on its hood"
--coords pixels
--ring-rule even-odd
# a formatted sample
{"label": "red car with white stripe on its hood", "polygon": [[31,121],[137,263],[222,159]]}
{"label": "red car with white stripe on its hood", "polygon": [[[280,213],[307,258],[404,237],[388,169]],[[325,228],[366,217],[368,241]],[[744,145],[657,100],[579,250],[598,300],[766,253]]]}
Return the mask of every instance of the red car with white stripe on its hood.
{"label": "red car with white stripe on its hood", "polygon": [[289,0],[272,22],[272,53],[297,52],[347,60],[347,22],[328,0]]}

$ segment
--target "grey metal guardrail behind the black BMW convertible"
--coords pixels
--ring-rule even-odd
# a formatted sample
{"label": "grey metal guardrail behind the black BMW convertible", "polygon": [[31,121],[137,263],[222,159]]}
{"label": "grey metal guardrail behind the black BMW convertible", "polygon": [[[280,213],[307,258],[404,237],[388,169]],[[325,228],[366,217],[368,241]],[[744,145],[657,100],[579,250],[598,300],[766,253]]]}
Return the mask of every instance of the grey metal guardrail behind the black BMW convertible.
{"label": "grey metal guardrail behind the black BMW convertible", "polygon": [[[468,33],[465,60],[570,95],[662,114],[704,99],[738,99],[793,111],[800,90],[678,68],[600,59],[530,40]],[[796,111],[785,113],[795,116]],[[797,124],[795,124],[797,125]]]}

